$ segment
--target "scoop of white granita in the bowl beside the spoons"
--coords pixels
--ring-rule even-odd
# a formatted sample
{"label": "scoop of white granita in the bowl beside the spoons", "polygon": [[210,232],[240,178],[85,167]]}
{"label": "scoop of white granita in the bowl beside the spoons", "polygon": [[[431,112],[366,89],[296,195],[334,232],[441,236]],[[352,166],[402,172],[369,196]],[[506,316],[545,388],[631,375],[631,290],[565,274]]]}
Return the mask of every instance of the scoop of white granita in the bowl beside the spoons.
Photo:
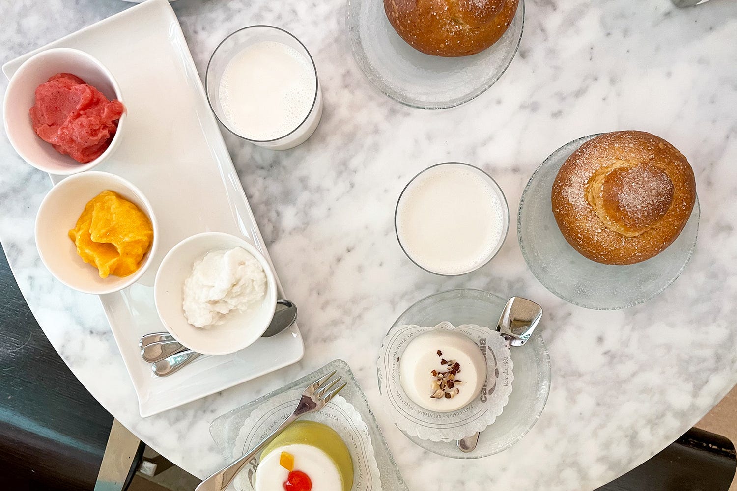
{"label": "scoop of white granita in the bowl beside the spoons", "polygon": [[231,311],[259,308],[266,289],[266,273],[247,250],[208,252],[195,261],[184,280],[184,317],[196,328],[222,324]]}

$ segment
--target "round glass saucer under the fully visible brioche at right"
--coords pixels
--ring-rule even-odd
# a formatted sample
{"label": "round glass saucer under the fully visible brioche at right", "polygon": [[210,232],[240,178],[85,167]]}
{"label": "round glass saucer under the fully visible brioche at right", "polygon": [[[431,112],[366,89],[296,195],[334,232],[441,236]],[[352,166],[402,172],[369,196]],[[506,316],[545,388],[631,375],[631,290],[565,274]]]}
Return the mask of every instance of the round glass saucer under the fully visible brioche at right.
{"label": "round glass saucer under the fully visible brioche at right", "polygon": [[584,258],[560,233],[553,216],[551,189],[565,160],[595,136],[560,147],[532,174],[520,199],[517,236],[530,271],[551,293],[580,307],[616,310],[652,299],[685,269],[696,247],[699,199],[680,236],[654,258],[626,266]]}

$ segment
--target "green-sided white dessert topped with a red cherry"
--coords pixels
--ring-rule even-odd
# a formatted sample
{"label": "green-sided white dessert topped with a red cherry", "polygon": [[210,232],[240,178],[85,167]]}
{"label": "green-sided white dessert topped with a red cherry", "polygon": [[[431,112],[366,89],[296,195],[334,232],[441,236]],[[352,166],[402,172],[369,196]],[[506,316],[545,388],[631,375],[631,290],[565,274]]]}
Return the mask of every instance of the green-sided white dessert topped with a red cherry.
{"label": "green-sided white dessert topped with a red cherry", "polygon": [[266,446],[256,469],[256,491],[350,491],[353,459],[329,426],[298,421]]}

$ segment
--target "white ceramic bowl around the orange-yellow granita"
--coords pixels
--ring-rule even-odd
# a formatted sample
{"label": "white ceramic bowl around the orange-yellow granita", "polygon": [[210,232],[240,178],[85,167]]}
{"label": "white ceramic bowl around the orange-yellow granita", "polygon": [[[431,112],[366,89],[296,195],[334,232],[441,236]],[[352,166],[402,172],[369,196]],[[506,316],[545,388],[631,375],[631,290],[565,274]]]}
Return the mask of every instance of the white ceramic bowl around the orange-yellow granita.
{"label": "white ceramic bowl around the orange-yellow granita", "polygon": [[[77,246],[67,233],[77,224],[90,199],[102,191],[120,194],[147,214],[153,225],[151,249],[133,275],[100,278],[97,268],[85,263],[77,254]],[[84,293],[117,292],[136,283],[148,268],[158,245],[158,223],[148,199],[128,180],[108,172],[85,172],[66,177],[43,198],[36,215],[36,247],[41,261],[57,280]]]}

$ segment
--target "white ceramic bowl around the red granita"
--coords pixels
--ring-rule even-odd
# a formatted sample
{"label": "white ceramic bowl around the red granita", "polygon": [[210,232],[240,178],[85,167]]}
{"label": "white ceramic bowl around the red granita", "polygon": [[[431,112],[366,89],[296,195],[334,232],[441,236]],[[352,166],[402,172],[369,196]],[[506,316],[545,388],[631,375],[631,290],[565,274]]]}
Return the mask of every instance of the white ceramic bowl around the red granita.
{"label": "white ceramic bowl around the red granita", "polygon": [[62,72],[80,77],[108,99],[118,99],[125,105],[118,82],[96,58],[79,49],[52,48],[30,57],[15,72],[5,91],[3,115],[7,138],[23,160],[49,174],[69,175],[92,169],[112,155],[125,128],[125,113],[120,116],[118,130],[110,145],[95,160],[79,163],[69,155],[57,152],[51,144],[36,135],[28,111],[35,104],[38,85]]}

